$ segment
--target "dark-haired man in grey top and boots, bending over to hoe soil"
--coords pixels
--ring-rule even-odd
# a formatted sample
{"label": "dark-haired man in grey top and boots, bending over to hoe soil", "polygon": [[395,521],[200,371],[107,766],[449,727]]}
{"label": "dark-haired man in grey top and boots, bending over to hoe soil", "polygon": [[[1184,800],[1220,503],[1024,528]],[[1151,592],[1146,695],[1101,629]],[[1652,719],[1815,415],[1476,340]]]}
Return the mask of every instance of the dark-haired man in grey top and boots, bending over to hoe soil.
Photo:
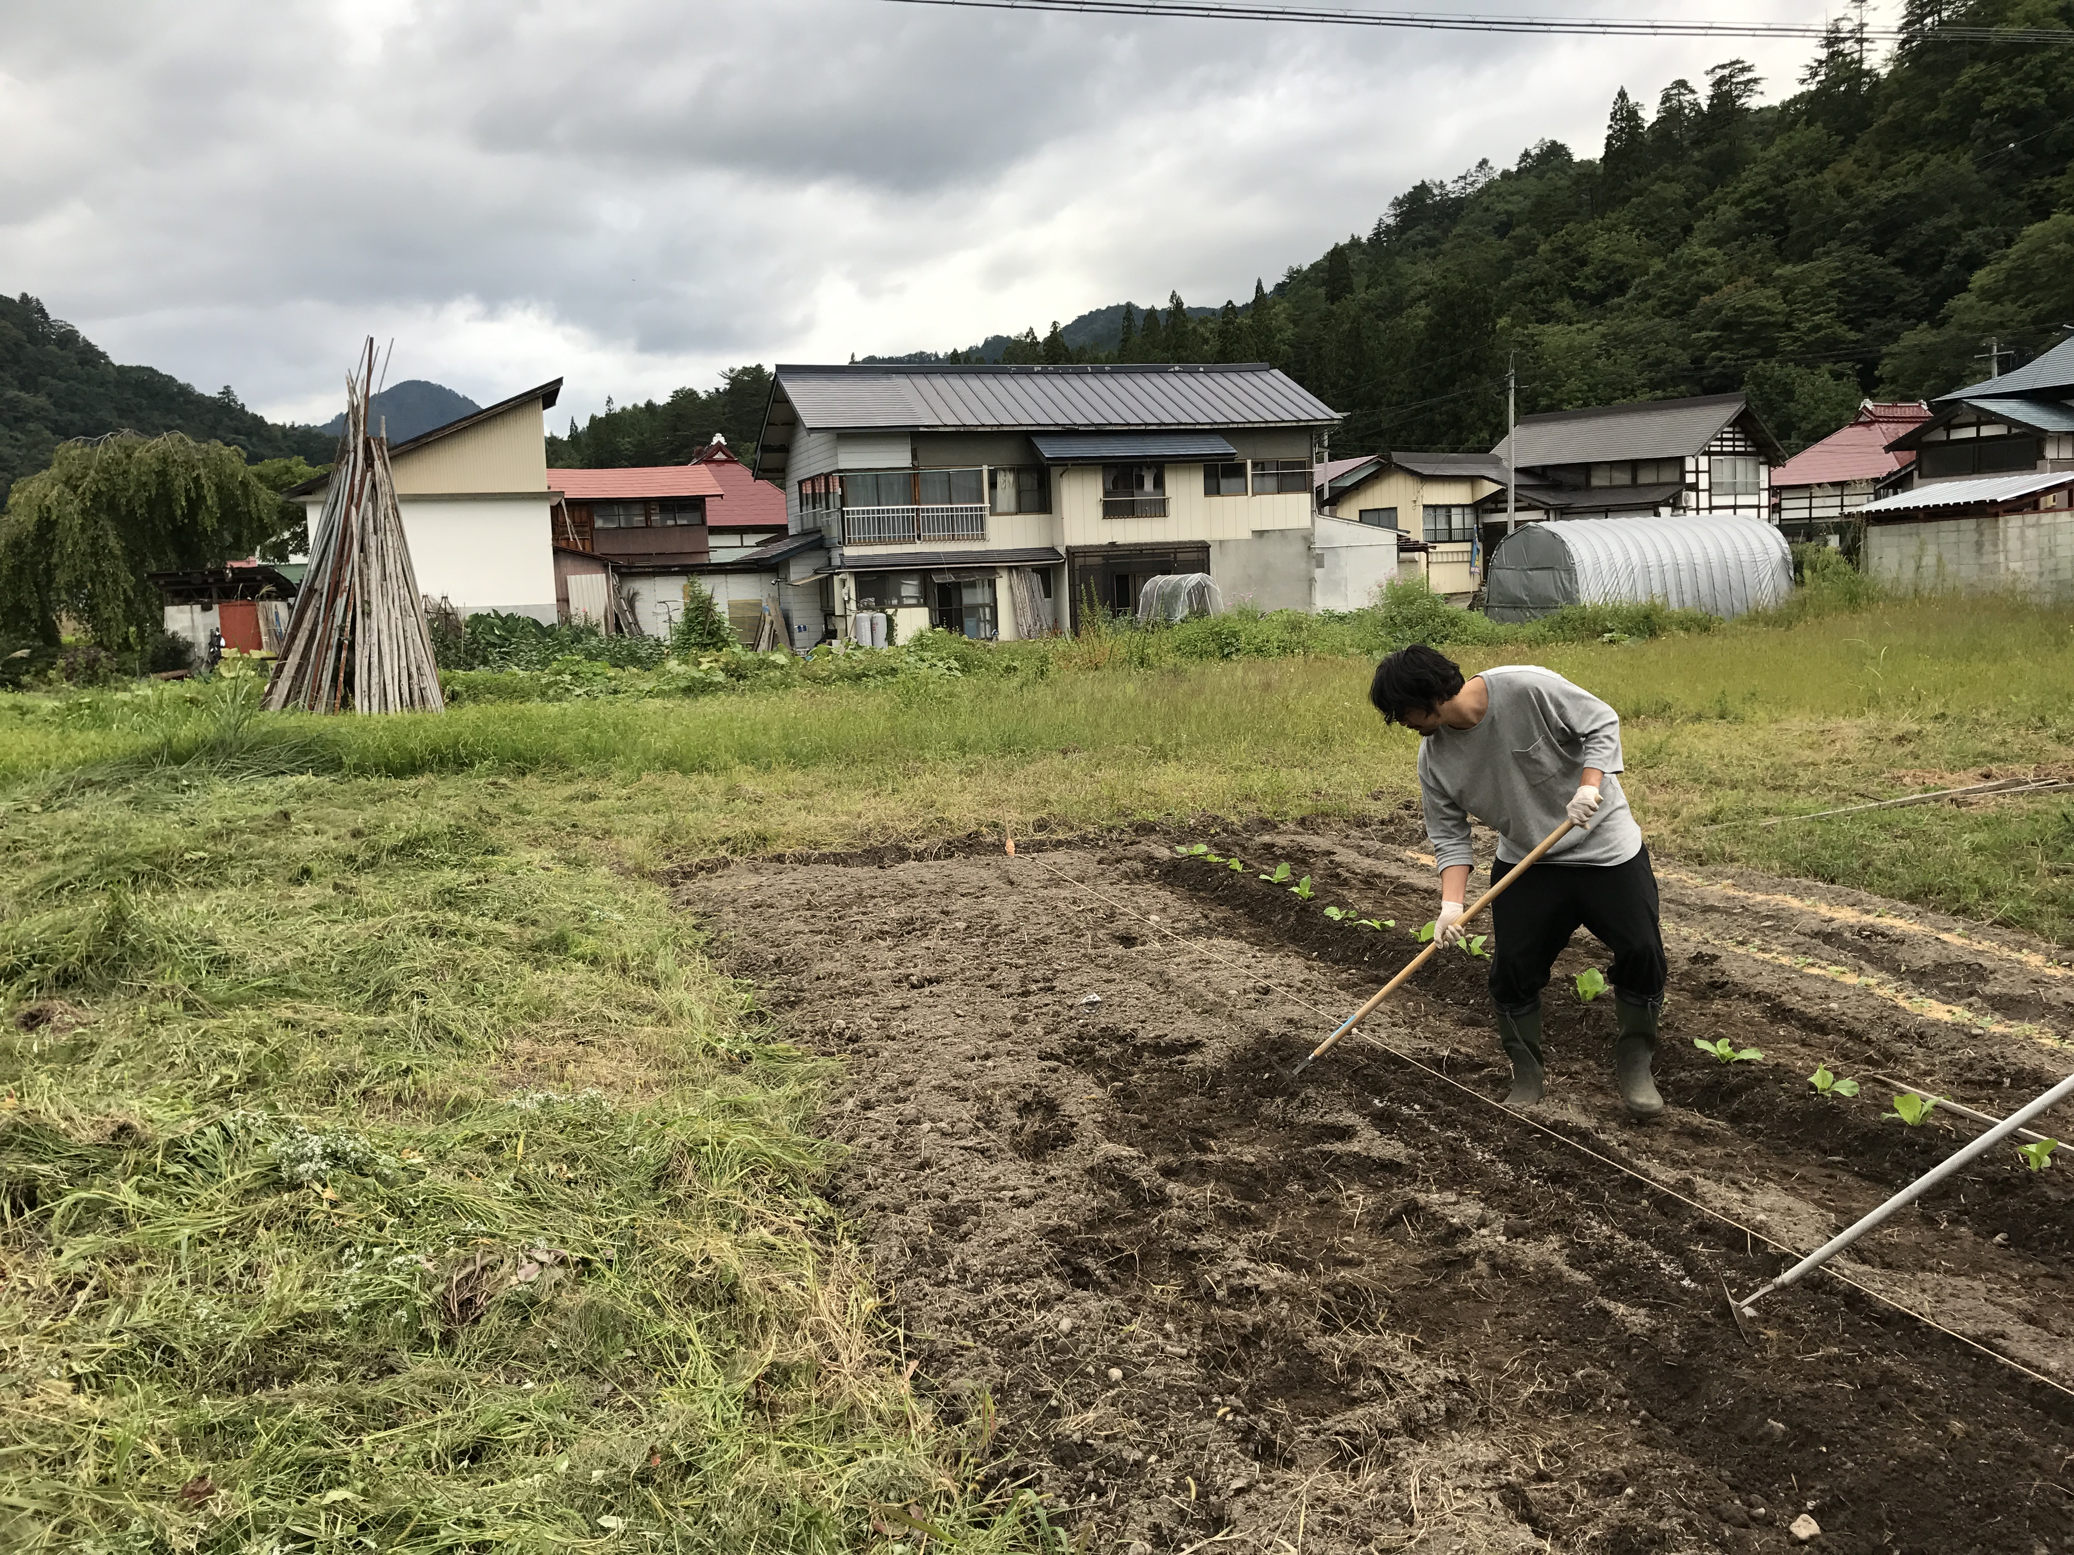
{"label": "dark-haired man in grey top and boots, bending over to hoe soil", "polygon": [[1497,883],[1564,817],[1580,829],[1491,904],[1491,1001],[1497,1043],[1512,1059],[1508,1105],[1541,1101],[1541,989],[1582,925],[1614,952],[1614,1076],[1636,1118],[1663,1111],[1649,1074],[1663,1008],[1657,877],[1643,831],[1620,792],[1620,715],[1553,670],[1514,663],[1462,682],[1462,670],[1425,643],[1375,670],[1369,701],[1417,730],[1419,788],[1439,869],[1433,937],[1462,939],[1468,892],[1468,817],[1497,831]]}

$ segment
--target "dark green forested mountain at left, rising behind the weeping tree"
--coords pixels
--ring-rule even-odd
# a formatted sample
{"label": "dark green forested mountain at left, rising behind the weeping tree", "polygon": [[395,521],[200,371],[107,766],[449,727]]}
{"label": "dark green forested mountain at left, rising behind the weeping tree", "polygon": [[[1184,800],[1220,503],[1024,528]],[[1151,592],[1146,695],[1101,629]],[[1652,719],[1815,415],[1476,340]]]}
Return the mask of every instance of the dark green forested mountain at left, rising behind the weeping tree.
{"label": "dark green forested mountain at left, rising behind the weeping tree", "polygon": [[332,456],[332,437],[247,411],[228,384],[203,394],[151,367],[118,367],[27,292],[0,296],[0,504],[60,442],[122,429],[234,444],[253,462]]}

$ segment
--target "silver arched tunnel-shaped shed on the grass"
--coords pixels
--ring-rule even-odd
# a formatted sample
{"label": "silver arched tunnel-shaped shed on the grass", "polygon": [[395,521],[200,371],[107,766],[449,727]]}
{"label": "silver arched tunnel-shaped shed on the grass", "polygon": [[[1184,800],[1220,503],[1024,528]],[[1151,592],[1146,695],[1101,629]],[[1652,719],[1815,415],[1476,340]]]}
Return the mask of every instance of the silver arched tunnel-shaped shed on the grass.
{"label": "silver arched tunnel-shaped shed on the grass", "polygon": [[1763,518],[1558,518],[1526,525],[1491,554],[1485,614],[1520,622],[1564,605],[1657,599],[1740,616],[1786,603],[1794,560]]}

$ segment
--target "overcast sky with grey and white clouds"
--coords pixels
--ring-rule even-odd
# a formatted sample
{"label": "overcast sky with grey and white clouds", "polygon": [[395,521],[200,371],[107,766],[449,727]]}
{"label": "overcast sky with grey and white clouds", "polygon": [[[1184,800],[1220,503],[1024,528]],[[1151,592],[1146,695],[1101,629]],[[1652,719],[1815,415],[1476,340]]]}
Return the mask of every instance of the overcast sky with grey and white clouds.
{"label": "overcast sky with grey and white clouds", "polygon": [[390,381],[479,402],[566,377],[560,423],[730,363],[1242,301],[1421,178],[1597,156],[1620,85],[1740,54],[1775,97],[1809,52],[888,0],[17,4],[0,288],[276,419],[336,413],[375,334]]}

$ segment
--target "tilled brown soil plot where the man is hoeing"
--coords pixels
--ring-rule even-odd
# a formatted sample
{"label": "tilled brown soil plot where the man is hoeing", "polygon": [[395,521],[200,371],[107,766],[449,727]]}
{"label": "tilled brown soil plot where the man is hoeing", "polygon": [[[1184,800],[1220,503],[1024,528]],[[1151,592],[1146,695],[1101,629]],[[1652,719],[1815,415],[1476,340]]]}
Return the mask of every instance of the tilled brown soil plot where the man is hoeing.
{"label": "tilled brown soil plot where the man is hoeing", "polygon": [[[1197,840],[1249,867],[1176,858]],[[1997,1115],[2066,1074],[2059,952],[1659,863],[1655,1124],[1614,1097],[1609,999],[1570,989],[1582,935],[1539,1130],[1489,1101],[1506,1068],[1458,952],[1379,1016],[1398,1053],[1354,1039],[1290,1084],[1412,954],[1417,848],[900,850],[701,871],[680,900],[848,1068],[836,1198],[917,1381],[991,1400],[1008,1472],[1091,1549],[1765,1551],[1809,1516],[1823,1551],[2074,1551],[2074,1395],[1954,1337],[2074,1385],[2074,1159],[2001,1147],[1833,1265],[1921,1319],[1815,1275],[1746,1341],[1723,1296],[1979,1128],[1883,1118],[1873,1074]],[[778,900],[813,927],[774,933]],[[1717,1037],[1765,1057],[1692,1045]],[[1815,1095],[1817,1062],[1862,1093]]]}

